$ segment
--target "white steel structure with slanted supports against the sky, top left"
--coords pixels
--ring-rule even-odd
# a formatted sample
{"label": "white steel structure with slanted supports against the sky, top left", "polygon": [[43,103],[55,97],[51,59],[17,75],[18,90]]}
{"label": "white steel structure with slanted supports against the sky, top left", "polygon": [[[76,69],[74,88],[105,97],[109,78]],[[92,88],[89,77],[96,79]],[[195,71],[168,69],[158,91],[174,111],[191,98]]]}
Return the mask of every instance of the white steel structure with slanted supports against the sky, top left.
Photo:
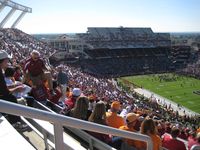
{"label": "white steel structure with slanted supports against the sky, top left", "polygon": [[12,9],[8,12],[5,18],[0,22],[0,28],[3,28],[10,17],[15,13],[16,10],[21,11],[19,17],[14,21],[11,28],[15,28],[17,24],[21,21],[26,13],[32,13],[32,8],[20,5],[10,0],[0,0],[0,13],[6,7],[11,7]]}

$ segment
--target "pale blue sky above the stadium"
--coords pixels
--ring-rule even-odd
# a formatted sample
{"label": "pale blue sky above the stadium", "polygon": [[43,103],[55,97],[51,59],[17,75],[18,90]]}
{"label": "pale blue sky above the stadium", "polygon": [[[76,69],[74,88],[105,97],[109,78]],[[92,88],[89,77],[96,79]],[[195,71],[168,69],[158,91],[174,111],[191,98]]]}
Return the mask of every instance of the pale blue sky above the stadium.
{"label": "pale blue sky above the stadium", "polygon": [[[87,27],[119,26],[151,27],[154,32],[200,32],[200,0],[13,1],[33,9],[17,26],[27,33],[78,33],[86,32]],[[0,19],[9,9],[3,11]]]}

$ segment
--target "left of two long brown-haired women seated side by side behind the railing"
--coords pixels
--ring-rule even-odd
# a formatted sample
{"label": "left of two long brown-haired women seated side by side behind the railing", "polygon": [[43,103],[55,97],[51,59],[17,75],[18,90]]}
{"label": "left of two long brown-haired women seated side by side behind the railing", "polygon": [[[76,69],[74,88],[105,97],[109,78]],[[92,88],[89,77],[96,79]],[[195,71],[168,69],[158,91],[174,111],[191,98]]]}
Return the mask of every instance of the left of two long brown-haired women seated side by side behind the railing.
{"label": "left of two long brown-haired women seated side by side behind the railing", "polygon": [[69,115],[74,118],[81,120],[88,120],[88,103],[89,100],[87,97],[79,97],[76,101],[74,108],[70,110]]}

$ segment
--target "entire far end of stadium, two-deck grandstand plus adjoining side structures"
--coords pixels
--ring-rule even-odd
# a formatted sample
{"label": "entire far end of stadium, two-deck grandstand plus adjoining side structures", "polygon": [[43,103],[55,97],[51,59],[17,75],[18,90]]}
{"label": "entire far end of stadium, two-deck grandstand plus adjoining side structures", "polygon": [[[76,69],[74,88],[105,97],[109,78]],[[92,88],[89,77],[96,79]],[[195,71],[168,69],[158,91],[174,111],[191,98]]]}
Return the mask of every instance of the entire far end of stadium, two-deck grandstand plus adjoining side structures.
{"label": "entire far end of stadium, two-deck grandstand plus adjoining side structures", "polygon": [[190,57],[190,47],[172,46],[169,33],[154,33],[151,28],[88,27],[86,33],[63,35],[49,43],[61,50],[51,62],[74,62],[65,53],[78,53],[82,70],[99,76],[171,72],[184,67]]}

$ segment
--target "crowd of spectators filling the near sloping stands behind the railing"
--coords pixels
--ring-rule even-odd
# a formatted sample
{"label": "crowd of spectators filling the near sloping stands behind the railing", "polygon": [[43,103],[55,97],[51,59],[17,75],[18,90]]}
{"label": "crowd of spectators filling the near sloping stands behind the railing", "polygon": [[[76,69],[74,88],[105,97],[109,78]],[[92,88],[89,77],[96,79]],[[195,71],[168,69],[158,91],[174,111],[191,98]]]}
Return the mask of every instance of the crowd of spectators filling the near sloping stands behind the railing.
{"label": "crowd of spectators filling the near sloping stands behind the railing", "polygon": [[[19,70],[19,68],[25,69],[22,69],[21,72],[16,72],[16,77],[20,79],[21,82],[24,82],[24,84],[31,87],[29,96],[32,96],[35,100],[39,100],[44,104],[46,104],[47,99],[49,99],[55,104],[61,105],[63,107],[62,114],[148,135],[152,139],[155,150],[159,149],[161,146],[165,147],[161,141],[161,137],[164,133],[172,133],[173,135],[172,131],[174,131],[175,128],[181,131],[181,134],[178,134],[178,137],[185,140],[190,137],[191,132],[195,133],[198,136],[193,136],[193,141],[195,144],[199,144],[199,116],[188,116],[187,113],[181,116],[178,111],[173,110],[167,105],[158,105],[157,100],[141,99],[134,94],[128,94],[126,91],[119,89],[113,84],[111,78],[94,77],[82,72],[81,68],[64,64],[61,66],[61,69],[67,76],[67,80],[65,80],[67,88],[66,95],[64,96],[66,98],[63,100],[63,97],[61,98],[64,93],[62,92],[63,89],[61,90],[63,83],[60,82],[59,85],[56,84],[60,66],[50,67],[48,70],[51,74],[49,78],[53,81],[52,86],[46,79],[40,78],[41,73],[44,73],[43,65],[49,65],[48,61],[43,61],[40,58],[48,57],[53,50],[50,48],[48,49],[44,43],[40,43],[30,35],[17,29],[1,29],[1,33],[3,33],[1,37],[3,40],[0,41],[3,43],[0,47],[2,53],[0,54],[1,87],[4,87],[4,90],[7,93],[6,96],[10,97],[7,98],[4,96],[5,93],[0,91],[0,98],[8,101],[12,100],[12,102],[17,103],[16,97],[10,93],[13,89],[8,90],[6,87],[3,76],[4,72],[2,72],[2,70],[6,70],[9,63],[7,55],[7,53],[9,53],[12,55],[12,59],[10,59],[11,66],[15,67],[16,70]],[[5,52],[6,57],[3,57],[5,56]],[[36,52],[39,54],[38,56],[40,56],[40,58],[35,59],[34,61],[42,61],[42,63],[44,63],[40,66],[41,68],[37,68],[38,70],[42,69],[42,72],[40,72],[39,75],[34,75],[34,77],[39,78],[38,81],[36,81],[36,84],[34,84],[34,79],[31,78],[30,75],[27,76],[27,73],[31,71],[30,68],[28,69],[28,72],[26,71],[26,66],[29,64],[29,55],[31,53],[32,56],[33,52]],[[20,60],[22,60],[23,63]],[[15,90],[23,90],[23,87],[21,86],[18,88],[16,87]],[[33,99],[31,98],[31,100]],[[13,119],[13,116],[10,117]],[[16,120],[16,117],[14,118],[15,120],[12,120],[14,123],[19,121]],[[125,143],[125,146],[128,144],[128,146],[133,146],[141,150],[146,148],[146,144],[140,141],[130,141],[130,143],[133,144],[129,145],[129,140],[120,137],[90,134],[99,139],[103,139],[106,143],[117,148],[120,146],[116,143],[122,143],[121,146],[124,146]],[[172,138],[176,137],[172,136]]]}

